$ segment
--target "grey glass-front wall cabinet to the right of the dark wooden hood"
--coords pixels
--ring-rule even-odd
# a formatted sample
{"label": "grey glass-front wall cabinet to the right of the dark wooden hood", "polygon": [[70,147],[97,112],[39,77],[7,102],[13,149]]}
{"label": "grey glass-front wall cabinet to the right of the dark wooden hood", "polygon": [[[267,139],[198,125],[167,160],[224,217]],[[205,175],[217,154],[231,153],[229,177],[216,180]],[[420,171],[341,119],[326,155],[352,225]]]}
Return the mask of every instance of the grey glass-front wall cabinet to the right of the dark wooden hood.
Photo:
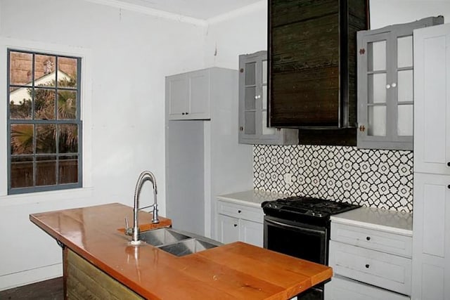
{"label": "grey glass-front wall cabinet to the right of the dark wooden hood", "polygon": [[413,30],[442,17],[357,33],[359,148],[413,150]]}

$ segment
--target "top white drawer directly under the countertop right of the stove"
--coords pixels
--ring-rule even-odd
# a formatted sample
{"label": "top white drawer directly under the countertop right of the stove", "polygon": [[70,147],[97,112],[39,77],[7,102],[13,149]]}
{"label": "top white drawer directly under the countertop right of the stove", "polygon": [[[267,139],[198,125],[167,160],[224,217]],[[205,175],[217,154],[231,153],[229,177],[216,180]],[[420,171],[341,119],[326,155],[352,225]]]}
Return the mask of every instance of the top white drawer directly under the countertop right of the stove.
{"label": "top white drawer directly under the countertop right of the stove", "polygon": [[409,258],[412,252],[412,237],[334,222],[331,240]]}

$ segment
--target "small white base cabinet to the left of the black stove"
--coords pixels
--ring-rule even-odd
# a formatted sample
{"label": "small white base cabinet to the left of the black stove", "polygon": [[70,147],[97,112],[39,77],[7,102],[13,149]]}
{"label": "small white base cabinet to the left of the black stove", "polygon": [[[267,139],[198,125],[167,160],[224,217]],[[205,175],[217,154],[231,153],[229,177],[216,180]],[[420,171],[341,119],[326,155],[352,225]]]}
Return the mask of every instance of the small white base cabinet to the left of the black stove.
{"label": "small white base cabinet to the left of the black stove", "polygon": [[263,246],[262,208],[217,201],[217,239],[223,243],[247,242]]}

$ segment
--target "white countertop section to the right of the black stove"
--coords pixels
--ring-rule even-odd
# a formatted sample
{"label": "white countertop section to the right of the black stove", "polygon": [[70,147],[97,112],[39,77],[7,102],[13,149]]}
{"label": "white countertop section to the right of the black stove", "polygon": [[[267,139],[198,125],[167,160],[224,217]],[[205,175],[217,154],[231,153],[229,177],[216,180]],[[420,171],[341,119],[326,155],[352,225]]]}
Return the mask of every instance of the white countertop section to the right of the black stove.
{"label": "white countertop section to the right of the black stove", "polygon": [[413,235],[413,215],[401,211],[360,207],[331,216],[331,221],[348,225],[383,230],[402,235]]}

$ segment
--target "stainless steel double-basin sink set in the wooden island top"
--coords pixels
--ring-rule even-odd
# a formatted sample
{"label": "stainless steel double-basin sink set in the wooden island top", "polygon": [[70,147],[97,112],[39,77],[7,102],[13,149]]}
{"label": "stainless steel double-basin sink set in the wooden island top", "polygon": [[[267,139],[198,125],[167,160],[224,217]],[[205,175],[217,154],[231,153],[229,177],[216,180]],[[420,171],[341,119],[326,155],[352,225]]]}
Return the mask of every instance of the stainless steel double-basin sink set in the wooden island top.
{"label": "stainless steel double-basin sink set in the wooden island top", "polygon": [[143,231],[140,239],[176,256],[185,256],[221,245],[220,242],[207,237],[174,228]]}

